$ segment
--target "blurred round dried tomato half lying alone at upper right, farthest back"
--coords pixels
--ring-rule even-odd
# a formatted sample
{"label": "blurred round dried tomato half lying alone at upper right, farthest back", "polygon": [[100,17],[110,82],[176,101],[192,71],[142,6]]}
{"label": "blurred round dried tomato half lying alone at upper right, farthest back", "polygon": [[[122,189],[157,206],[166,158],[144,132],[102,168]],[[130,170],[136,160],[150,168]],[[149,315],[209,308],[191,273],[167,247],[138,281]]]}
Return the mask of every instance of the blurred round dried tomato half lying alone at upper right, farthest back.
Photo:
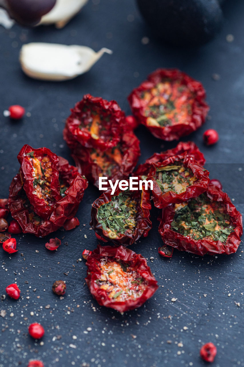
{"label": "blurred round dried tomato half lying alone at upper right, farthest back", "polygon": [[199,81],[177,69],[158,69],[129,95],[133,114],[151,133],[171,141],[197,130],[208,105]]}

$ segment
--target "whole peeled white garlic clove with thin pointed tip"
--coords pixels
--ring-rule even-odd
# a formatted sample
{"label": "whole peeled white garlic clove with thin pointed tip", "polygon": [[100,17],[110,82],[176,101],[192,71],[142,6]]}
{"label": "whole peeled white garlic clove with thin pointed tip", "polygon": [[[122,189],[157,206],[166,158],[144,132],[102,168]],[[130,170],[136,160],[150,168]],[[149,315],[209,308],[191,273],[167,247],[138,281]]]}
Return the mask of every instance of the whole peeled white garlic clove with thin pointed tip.
{"label": "whole peeled white garlic clove with thin pointed tip", "polygon": [[56,43],[27,43],[22,46],[19,61],[26,75],[41,80],[62,81],[87,72],[104,54],[86,46],[66,46]]}

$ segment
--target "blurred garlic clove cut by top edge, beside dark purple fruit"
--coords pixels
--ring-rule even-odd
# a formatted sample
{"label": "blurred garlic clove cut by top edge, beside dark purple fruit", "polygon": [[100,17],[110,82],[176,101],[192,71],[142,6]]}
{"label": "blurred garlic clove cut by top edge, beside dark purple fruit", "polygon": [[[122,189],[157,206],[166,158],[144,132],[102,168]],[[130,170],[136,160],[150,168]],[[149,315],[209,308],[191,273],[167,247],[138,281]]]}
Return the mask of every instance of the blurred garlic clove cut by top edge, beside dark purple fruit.
{"label": "blurred garlic clove cut by top edge, beside dark purple fruit", "polygon": [[77,14],[88,0],[56,0],[55,6],[45,14],[38,25],[53,24],[63,28]]}

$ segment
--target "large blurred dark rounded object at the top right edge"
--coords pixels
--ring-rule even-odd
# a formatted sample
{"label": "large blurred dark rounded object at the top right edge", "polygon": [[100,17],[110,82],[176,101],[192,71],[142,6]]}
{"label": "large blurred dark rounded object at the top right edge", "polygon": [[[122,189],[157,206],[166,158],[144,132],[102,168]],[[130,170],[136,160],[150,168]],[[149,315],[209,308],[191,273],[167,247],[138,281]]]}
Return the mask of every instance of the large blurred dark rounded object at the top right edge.
{"label": "large blurred dark rounded object at the top right edge", "polygon": [[158,37],[178,46],[198,46],[220,30],[217,0],[137,0],[138,8]]}

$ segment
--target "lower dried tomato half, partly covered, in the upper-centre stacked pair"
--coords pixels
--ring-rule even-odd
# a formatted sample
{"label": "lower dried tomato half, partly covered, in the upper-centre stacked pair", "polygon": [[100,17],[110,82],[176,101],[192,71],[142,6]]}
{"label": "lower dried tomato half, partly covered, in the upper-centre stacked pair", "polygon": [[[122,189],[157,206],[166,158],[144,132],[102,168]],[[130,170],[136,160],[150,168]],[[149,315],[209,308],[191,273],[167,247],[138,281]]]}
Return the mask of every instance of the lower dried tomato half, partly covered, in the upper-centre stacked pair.
{"label": "lower dried tomato half, partly covered, in the upper-centre stacked pair", "polygon": [[101,151],[80,145],[72,150],[71,156],[79,171],[98,188],[99,177],[107,177],[113,183],[129,177],[140,156],[139,144],[133,132],[125,132],[113,148]]}

